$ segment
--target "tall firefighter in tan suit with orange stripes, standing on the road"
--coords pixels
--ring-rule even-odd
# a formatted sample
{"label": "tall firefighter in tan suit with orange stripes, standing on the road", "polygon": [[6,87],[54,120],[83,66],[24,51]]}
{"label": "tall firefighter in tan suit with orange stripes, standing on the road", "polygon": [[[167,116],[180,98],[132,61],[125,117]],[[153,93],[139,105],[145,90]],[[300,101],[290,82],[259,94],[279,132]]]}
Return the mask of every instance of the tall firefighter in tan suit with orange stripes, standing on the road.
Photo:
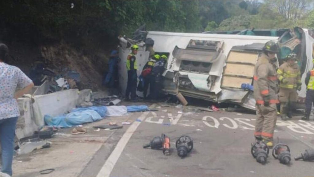
{"label": "tall firefighter in tan suit with orange stripes, standing on the road", "polygon": [[274,63],[278,45],[268,41],[263,47],[263,54],[258,58],[254,68],[254,98],[256,100],[257,119],[254,136],[273,147],[273,132],[277,121],[278,82]]}

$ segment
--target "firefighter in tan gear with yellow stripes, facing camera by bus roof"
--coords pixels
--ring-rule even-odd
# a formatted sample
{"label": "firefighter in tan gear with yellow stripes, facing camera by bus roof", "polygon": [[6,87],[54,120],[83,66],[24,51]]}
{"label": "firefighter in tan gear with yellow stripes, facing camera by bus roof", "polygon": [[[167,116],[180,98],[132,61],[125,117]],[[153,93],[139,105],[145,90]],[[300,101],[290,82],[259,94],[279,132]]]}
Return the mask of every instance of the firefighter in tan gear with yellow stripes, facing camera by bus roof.
{"label": "firefighter in tan gear with yellow stripes, facing camera by bus roof", "polygon": [[301,72],[295,61],[296,54],[291,53],[286,57],[286,62],[277,70],[277,78],[279,83],[279,102],[280,102],[280,117],[281,120],[292,118],[292,109],[298,101],[296,90],[301,89]]}

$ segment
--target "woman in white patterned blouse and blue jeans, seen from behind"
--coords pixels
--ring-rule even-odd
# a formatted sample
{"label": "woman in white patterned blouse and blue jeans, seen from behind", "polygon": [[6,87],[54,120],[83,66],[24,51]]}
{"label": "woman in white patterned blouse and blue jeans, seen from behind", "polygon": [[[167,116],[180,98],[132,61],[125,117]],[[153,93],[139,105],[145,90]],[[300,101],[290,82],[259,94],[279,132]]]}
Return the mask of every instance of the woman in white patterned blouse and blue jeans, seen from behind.
{"label": "woman in white patterned blouse and blue jeans, seen from behind", "polygon": [[7,60],[8,47],[0,43],[0,176],[12,175],[15,126],[20,115],[17,99],[34,87],[32,80],[19,68],[6,64]]}

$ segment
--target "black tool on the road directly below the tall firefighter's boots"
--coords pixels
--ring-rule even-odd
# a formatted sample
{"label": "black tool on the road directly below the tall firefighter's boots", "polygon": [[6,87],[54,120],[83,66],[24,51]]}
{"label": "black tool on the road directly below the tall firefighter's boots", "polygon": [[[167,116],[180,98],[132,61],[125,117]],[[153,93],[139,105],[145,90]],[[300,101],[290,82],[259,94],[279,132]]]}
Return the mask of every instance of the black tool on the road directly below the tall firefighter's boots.
{"label": "black tool on the road directly below the tall firefighter's boots", "polygon": [[252,144],[251,153],[254,158],[256,158],[256,161],[261,164],[265,164],[269,148],[263,141],[257,141],[256,143]]}

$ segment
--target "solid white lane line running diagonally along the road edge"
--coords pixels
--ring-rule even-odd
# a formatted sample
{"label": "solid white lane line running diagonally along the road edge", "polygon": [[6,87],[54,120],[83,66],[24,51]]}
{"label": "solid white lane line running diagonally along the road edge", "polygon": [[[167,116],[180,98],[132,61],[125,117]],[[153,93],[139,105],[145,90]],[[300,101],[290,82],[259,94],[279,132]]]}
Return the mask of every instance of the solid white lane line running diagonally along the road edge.
{"label": "solid white lane line running diagonally along the road edge", "polygon": [[[156,104],[152,104],[149,106],[150,109],[154,108]],[[144,121],[145,117],[149,114],[149,112],[143,112],[143,114],[138,117],[141,122]],[[138,128],[139,124],[141,122],[133,122],[132,125],[127,129],[127,131],[123,134],[122,138],[119,140],[116,148],[112,151],[108,159],[106,160],[104,166],[100,169],[99,173],[97,174],[97,177],[101,176],[109,176],[112,169],[116,165],[116,162],[118,161],[124,147],[127,145],[127,142],[130,140],[131,136],[135,132],[135,130]]]}

